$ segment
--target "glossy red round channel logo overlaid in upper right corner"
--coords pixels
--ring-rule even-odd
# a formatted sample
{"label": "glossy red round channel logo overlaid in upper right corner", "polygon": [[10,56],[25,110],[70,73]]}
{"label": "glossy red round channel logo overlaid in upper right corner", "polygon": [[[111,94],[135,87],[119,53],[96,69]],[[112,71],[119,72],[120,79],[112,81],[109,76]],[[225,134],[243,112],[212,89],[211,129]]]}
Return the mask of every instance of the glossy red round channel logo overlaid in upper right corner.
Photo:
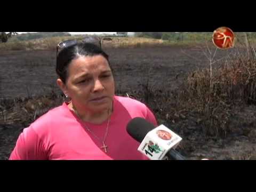
{"label": "glossy red round channel logo overlaid in upper right corner", "polygon": [[219,49],[229,49],[235,45],[235,34],[227,27],[220,27],[214,30],[212,41]]}

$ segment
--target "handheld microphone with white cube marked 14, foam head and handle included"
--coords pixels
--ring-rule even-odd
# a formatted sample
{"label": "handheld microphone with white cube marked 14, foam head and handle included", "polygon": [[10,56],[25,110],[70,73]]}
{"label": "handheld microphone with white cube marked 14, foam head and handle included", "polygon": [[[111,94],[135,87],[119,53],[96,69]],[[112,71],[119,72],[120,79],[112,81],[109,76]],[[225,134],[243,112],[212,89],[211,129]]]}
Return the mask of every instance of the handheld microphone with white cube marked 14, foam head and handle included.
{"label": "handheld microphone with white cube marked 14, foam head and handle included", "polygon": [[174,150],[182,138],[164,125],[155,127],[143,118],[133,118],[126,126],[129,135],[140,142],[138,150],[149,159],[186,160],[178,151]]}

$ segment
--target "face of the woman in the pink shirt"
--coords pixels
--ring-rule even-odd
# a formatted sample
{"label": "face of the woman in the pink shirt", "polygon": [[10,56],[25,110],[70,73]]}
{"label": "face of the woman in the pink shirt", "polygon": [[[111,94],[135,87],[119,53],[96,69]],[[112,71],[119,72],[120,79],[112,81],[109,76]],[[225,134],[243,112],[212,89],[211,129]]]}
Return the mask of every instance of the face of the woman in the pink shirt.
{"label": "face of the woman in the pink shirt", "polygon": [[75,105],[91,111],[108,109],[115,83],[108,61],[102,55],[78,57],[68,67],[65,93]]}

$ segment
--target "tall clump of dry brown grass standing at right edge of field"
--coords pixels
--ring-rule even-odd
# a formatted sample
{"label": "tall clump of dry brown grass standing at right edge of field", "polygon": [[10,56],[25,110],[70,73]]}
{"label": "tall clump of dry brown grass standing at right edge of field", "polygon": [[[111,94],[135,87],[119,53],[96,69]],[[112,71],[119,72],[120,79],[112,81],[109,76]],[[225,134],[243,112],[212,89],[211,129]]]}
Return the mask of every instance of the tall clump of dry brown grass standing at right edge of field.
{"label": "tall clump of dry brown grass standing at right edge of field", "polygon": [[231,106],[256,104],[256,60],[234,54],[217,69],[196,70],[187,75],[179,101],[201,114],[198,122],[208,135],[226,136]]}

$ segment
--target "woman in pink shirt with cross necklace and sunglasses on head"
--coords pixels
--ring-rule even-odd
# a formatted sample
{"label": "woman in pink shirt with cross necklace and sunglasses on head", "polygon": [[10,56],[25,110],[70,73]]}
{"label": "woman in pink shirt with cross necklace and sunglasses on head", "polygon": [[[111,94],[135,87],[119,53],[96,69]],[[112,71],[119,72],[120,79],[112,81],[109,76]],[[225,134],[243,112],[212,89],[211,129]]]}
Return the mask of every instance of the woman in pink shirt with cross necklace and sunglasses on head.
{"label": "woman in pink shirt with cross necklace and sunglasses on head", "polygon": [[10,159],[147,159],[126,125],[135,117],[154,125],[156,119],[143,103],[115,95],[108,55],[87,42],[59,47],[57,84],[70,102],[24,129]]}

